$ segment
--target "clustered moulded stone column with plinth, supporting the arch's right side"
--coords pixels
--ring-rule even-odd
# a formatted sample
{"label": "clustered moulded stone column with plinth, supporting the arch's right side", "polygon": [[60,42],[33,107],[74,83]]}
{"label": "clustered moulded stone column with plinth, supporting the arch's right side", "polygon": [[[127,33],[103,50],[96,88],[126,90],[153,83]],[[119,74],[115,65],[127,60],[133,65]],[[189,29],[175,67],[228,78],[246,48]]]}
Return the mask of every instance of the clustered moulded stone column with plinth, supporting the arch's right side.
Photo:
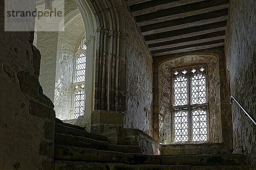
{"label": "clustered moulded stone column with plinth, supporting the arch's right side", "polygon": [[122,144],[126,93],[126,36],[97,29],[95,105],[91,113],[91,132]]}

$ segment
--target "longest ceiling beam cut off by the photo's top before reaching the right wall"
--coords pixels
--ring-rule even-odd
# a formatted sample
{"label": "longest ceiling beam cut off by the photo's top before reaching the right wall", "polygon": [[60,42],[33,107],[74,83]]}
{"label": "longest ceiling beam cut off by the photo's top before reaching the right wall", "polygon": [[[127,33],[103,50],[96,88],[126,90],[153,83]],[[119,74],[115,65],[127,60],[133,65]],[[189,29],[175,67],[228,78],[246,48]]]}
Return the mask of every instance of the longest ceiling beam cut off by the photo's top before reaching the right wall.
{"label": "longest ceiling beam cut off by the photo's top before reaching the right wall", "polygon": [[[139,16],[139,15],[144,15],[144,14],[149,14],[152,12],[156,12],[156,11],[161,11],[163,9],[169,9],[169,8],[174,8],[177,6],[183,6],[183,5],[187,5],[187,4],[191,4],[191,3],[197,3],[197,2],[201,2],[204,0],[168,0],[169,3],[161,3],[164,2],[164,0],[157,0],[156,2],[159,4],[155,4],[154,5],[154,1],[151,1],[150,3],[141,3],[138,5],[134,5],[131,6],[131,13],[133,14],[134,17]],[[168,2],[167,1],[167,2]],[[170,2],[173,1],[173,2]],[[147,6],[149,6],[147,8]]]}

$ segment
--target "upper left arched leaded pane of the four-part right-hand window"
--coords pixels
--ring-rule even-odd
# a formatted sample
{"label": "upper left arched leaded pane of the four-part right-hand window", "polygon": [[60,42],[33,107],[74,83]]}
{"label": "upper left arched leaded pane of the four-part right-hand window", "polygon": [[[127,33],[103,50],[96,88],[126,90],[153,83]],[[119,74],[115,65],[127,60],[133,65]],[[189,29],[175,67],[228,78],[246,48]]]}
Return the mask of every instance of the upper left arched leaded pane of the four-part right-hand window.
{"label": "upper left arched leaded pane of the four-part right-hand window", "polygon": [[188,104],[188,83],[185,76],[177,77],[174,80],[174,105]]}

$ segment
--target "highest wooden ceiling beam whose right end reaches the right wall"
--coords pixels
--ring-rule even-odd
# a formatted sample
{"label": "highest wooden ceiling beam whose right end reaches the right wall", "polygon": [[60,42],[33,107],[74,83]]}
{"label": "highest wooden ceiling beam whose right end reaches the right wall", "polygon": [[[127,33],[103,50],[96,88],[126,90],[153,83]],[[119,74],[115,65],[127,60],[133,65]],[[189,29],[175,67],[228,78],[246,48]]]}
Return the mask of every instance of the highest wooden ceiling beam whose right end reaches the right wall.
{"label": "highest wooden ceiling beam whose right end reaches the right wall", "polygon": [[217,11],[228,7],[229,0],[211,0],[161,10],[153,12],[151,14],[140,15],[135,17],[135,20],[138,26],[145,26],[154,23],[175,20],[177,18],[189,17],[197,14],[204,14],[210,11]]}

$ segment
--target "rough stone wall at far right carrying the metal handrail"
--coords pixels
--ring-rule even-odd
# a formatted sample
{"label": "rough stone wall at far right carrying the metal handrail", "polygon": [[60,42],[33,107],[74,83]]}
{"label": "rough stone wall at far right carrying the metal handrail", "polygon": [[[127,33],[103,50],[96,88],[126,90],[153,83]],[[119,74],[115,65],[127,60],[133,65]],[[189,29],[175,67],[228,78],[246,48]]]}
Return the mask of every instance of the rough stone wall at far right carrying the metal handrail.
{"label": "rough stone wall at far right carrying the metal handrail", "polygon": [[[256,119],[256,1],[230,0],[226,56],[231,93]],[[232,106],[234,153],[249,156],[256,167],[256,125]]]}

